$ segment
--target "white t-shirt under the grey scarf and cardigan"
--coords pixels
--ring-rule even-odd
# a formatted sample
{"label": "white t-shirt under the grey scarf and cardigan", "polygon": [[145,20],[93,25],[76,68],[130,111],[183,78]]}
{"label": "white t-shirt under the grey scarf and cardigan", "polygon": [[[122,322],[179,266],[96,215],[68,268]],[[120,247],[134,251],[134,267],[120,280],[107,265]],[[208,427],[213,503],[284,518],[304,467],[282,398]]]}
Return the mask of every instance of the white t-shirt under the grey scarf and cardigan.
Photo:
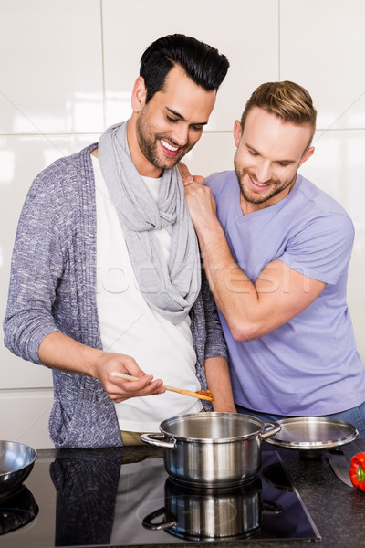
{"label": "white t-shirt under the grey scarf and cardigan", "polygon": [[[96,184],[97,306],[103,348],[132,356],[146,374],[161,378],[166,385],[199,390],[190,318],[172,325],[143,299],[98,159],[91,158]],[[146,178],[145,183],[156,199],[161,179]],[[156,236],[168,258],[169,230],[158,230]],[[199,400],[172,392],[116,404],[120,429],[132,432],[156,432],[165,418],[201,409]]]}

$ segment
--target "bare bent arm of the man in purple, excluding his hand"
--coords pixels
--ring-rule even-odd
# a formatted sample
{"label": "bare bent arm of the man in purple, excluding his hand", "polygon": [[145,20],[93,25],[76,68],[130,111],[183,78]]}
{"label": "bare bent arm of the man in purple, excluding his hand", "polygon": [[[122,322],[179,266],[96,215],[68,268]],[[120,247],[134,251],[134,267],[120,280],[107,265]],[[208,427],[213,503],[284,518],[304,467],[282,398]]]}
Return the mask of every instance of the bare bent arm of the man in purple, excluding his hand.
{"label": "bare bent arm of the man in purple, excluding his hand", "polygon": [[273,332],[304,311],[326,286],[280,259],[266,265],[253,284],[235,264],[216,217],[209,230],[199,231],[199,241],[214,300],[236,341]]}

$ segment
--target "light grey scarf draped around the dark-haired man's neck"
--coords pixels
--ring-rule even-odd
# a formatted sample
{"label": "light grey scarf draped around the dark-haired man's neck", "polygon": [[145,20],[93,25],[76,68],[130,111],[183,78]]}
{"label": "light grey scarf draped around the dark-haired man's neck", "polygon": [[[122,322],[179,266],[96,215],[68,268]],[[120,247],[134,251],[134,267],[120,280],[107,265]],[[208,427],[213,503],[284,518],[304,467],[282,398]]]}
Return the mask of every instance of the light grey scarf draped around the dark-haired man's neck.
{"label": "light grey scarf draped around the dark-haired man's neck", "polygon": [[[139,288],[151,308],[177,325],[200,290],[199,249],[176,167],[164,170],[157,202],[130,158],[127,123],[99,141],[99,164],[126,239]],[[172,226],[168,264],[153,230]]]}

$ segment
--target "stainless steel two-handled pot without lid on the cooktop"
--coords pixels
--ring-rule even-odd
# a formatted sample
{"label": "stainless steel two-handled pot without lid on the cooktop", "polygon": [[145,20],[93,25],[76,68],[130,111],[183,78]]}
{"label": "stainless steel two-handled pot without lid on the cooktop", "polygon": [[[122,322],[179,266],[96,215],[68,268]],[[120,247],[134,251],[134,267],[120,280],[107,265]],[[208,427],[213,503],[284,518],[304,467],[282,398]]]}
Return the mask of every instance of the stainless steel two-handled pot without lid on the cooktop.
{"label": "stainless steel two-handled pot without lid on the cooktop", "polygon": [[276,423],[235,413],[173,416],[161,434],[141,440],[163,448],[164,466],[173,479],[202,486],[232,486],[253,479],[261,467],[261,442],[280,431]]}

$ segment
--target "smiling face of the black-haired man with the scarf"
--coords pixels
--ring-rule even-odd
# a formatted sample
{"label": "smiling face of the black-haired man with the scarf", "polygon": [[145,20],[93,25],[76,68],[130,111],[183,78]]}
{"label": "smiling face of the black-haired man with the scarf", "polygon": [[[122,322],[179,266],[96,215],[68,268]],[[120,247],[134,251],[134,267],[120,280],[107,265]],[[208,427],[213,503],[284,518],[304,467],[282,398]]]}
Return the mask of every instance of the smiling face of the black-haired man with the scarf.
{"label": "smiling face of the black-haired man with the scarf", "polygon": [[144,80],[137,79],[128,126],[132,160],[141,175],[158,177],[199,141],[214,108],[215,91],[205,91],[175,66],[163,90],[146,103]]}

